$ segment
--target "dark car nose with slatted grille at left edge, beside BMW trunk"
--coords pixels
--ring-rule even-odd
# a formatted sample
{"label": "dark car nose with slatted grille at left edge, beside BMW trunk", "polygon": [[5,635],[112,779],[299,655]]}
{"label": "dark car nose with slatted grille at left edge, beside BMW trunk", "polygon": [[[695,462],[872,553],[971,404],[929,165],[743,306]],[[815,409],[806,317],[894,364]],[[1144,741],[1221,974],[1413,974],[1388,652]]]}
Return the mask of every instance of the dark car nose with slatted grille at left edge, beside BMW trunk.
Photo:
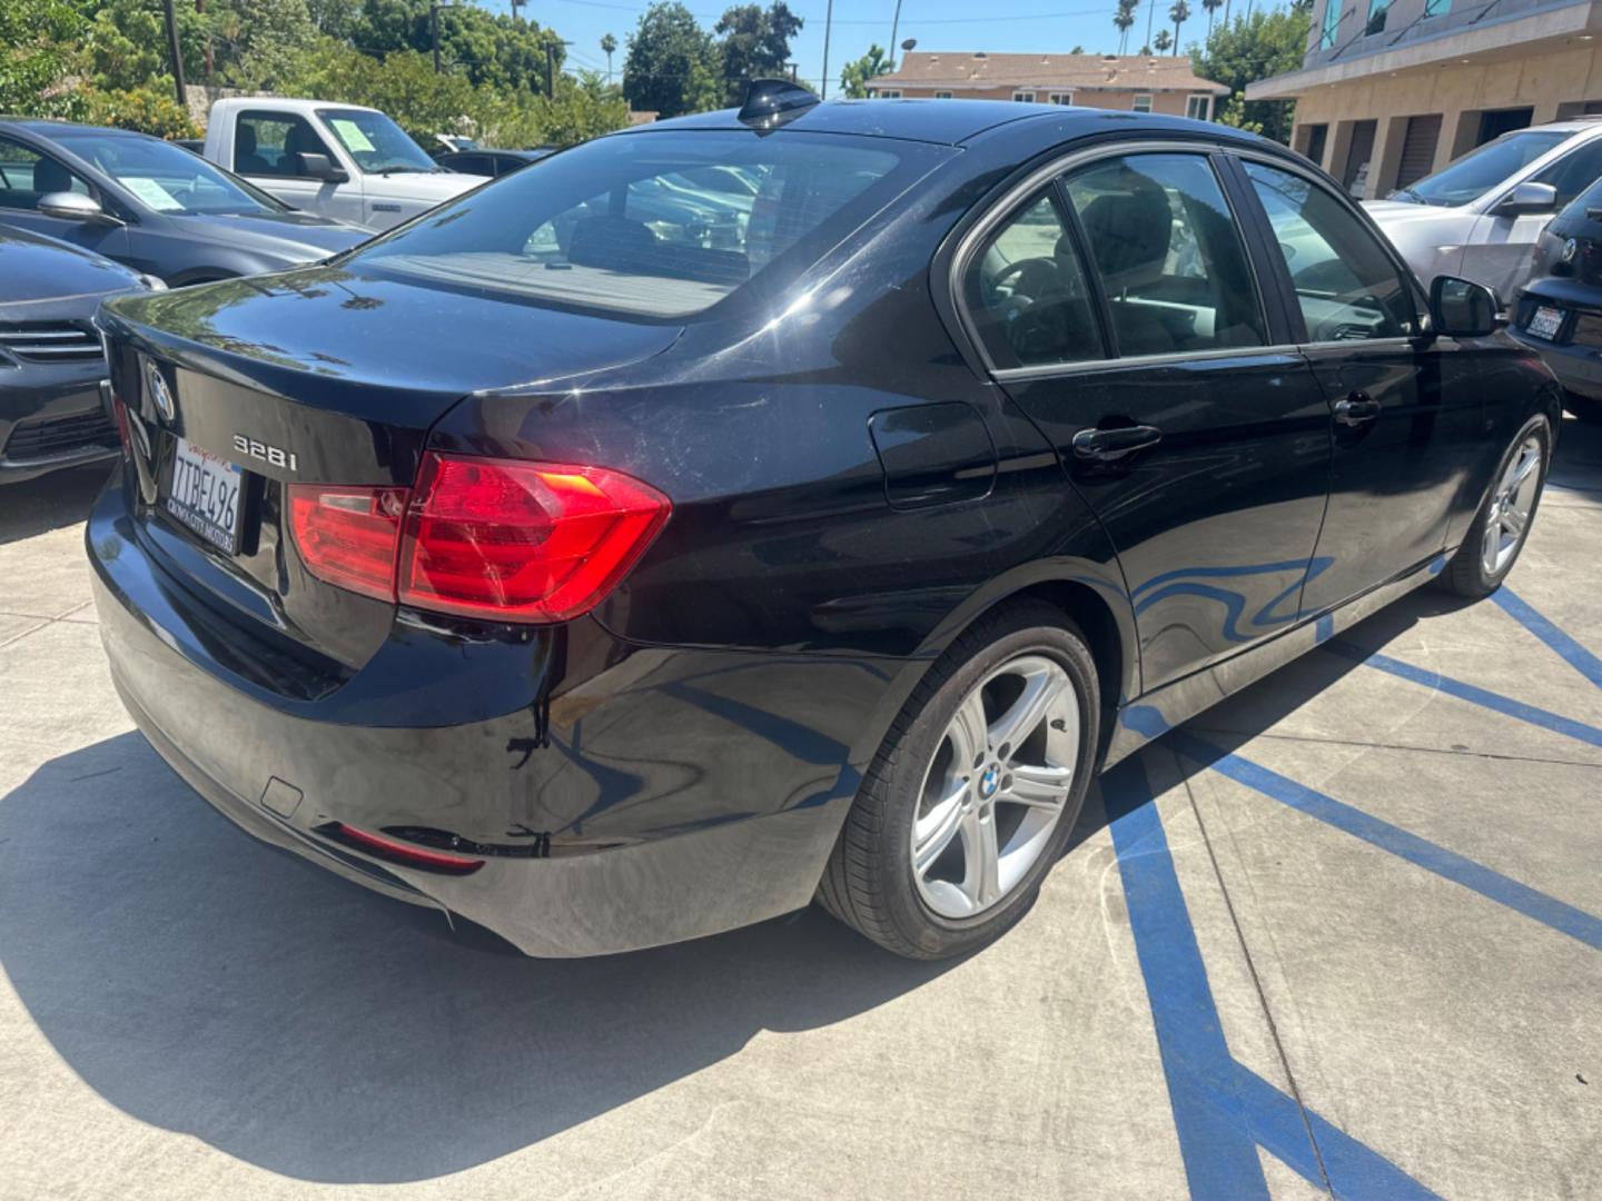
{"label": "dark car nose with slatted grille at left edge, beside BMW trunk", "polygon": [[0,484],[117,456],[95,311],[147,287],[160,282],[0,226]]}

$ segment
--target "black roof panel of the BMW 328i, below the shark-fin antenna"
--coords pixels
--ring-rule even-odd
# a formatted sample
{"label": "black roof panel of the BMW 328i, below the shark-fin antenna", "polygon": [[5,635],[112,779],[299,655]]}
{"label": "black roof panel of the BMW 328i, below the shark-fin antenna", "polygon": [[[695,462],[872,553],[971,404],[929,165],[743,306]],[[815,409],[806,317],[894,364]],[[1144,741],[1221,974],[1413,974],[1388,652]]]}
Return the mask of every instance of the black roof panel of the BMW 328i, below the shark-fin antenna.
{"label": "black roof panel of the BMW 328i, below the shark-fin antenna", "polygon": [[[977,99],[831,99],[820,101],[790,117],[780,128],[806,133],[852,133],[868,138],[963,146],[982,133],[1024,120],[1054,120],[1057,141],[1089,133],[1105,133],[1110,123],[1125,128],[1208,131],[1219,139],[1261,143],[1256,135],[1227,125],[1203,123],[1158,114],[1089,109],[1069,104],[1024,104],[1020,101]],[[1081,127],[1081,128],[1078,128]],[[674,117],[618,130],[612,136],[636,136],[668,130],[747,130],[737,109]]]}

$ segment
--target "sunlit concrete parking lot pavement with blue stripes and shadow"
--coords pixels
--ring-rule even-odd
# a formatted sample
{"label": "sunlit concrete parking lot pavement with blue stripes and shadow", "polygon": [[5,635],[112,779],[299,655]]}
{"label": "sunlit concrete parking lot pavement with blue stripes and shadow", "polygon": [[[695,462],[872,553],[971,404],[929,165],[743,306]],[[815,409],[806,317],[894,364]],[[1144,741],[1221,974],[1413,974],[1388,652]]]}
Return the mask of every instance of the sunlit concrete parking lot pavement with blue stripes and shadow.
{"label": "sunlit concrete parking lot pavement with blue stripes and shadow", "polygon": [[956,964],[815,911],[537,962],[131,732],[83,472],[0,493],[0,1198],[1602,1195],[1602,431],[1418,594],[1107,777]]}

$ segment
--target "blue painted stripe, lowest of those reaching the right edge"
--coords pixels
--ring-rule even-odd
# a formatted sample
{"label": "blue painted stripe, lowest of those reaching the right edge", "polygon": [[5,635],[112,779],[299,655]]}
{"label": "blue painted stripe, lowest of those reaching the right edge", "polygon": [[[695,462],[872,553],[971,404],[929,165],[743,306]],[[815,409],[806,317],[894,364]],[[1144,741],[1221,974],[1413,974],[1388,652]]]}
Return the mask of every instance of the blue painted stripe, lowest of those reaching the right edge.
{"label": "blue painted stripe, lowest of those reaching the right edge", "polygon": [[1354,837],[1360,837],[1381,850],[1389,850],[1408,863],[1432,871],[1455,884],[1461,884],[1498,905],[1506,905],[1509,910],[1533,918],[1559,934],[1567,934],[1570,938],[1602,951],[1602,918],[1576,910],[1573,905],[1567,905],[1556,897],[1538,892],[1509,876],[1503,876],[1499,871],[1475,863],[1455,850],[1447,850],[1429,839],[1371,817],[1360,809],[1354,809],[1344,801],[1336,801],[1333,796],[1283,777],[1251,759],[1243,759],[1203,738],[1197,738],[1193,733],[1176,730],[1169,735],[1169,745],[1187,759],[1226,775],[1235,783],[1318,818],[1336,829],[1344,829]]}

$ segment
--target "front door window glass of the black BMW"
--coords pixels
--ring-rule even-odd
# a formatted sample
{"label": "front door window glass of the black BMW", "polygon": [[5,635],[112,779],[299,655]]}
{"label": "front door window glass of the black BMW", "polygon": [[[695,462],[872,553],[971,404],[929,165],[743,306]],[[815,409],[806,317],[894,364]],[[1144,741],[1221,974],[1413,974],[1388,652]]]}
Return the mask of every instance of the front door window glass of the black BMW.
{"label": "front door window glass of the black BMW", "polygon": [[1416,315],[1413,295],[1373,234],[1310,179],[1262,163],[1245,168],[1280,243],[1309,341],[1403,336]]}

